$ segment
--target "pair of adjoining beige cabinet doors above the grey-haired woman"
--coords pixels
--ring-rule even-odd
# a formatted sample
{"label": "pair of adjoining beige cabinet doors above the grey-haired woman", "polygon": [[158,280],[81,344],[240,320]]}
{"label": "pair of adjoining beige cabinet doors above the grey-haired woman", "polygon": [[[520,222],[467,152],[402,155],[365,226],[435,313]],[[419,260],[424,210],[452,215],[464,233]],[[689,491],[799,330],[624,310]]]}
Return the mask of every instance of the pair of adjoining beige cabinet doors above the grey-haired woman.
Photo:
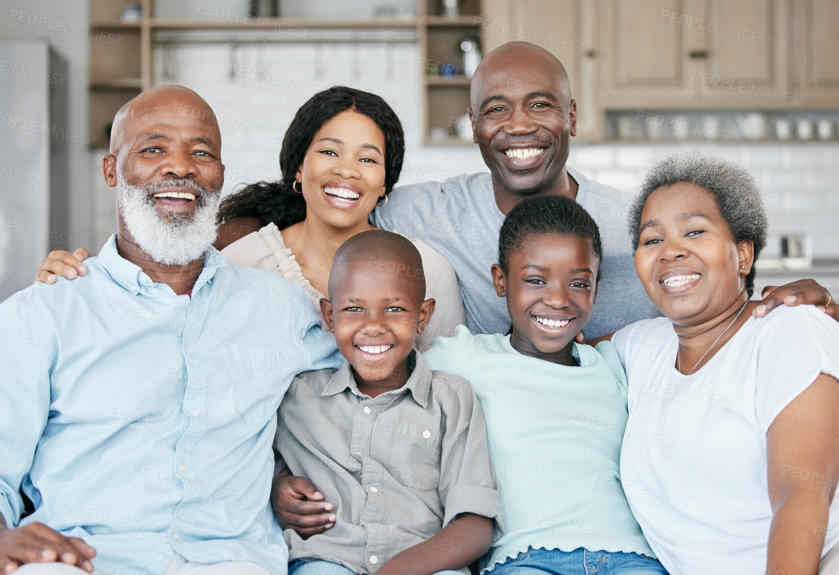
{"label": "pair of adjoining beige cabinet doors above the grey-haired woman", "polygon": [[602,0],[607,109],[795,106],[789,5]]}

